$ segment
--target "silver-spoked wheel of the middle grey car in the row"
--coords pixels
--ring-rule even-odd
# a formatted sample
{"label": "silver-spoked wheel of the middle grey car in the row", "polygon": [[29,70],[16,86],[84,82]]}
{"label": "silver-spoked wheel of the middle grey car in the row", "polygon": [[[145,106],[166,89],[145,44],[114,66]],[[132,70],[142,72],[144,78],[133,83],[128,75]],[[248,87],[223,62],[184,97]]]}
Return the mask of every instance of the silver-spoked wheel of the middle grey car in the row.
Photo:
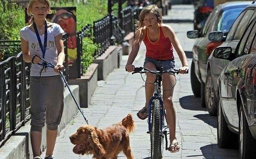
{"label": "silver-spoked wheel of the middle grey car in the row", "polygon": [[210,115],[216,116],[217,115],[217,98],[214,93],[213,87],[213,78],[211,76],[211,71],[208,70],[205,87],[204,87],[204,98],[205,98],[205,105]]}

